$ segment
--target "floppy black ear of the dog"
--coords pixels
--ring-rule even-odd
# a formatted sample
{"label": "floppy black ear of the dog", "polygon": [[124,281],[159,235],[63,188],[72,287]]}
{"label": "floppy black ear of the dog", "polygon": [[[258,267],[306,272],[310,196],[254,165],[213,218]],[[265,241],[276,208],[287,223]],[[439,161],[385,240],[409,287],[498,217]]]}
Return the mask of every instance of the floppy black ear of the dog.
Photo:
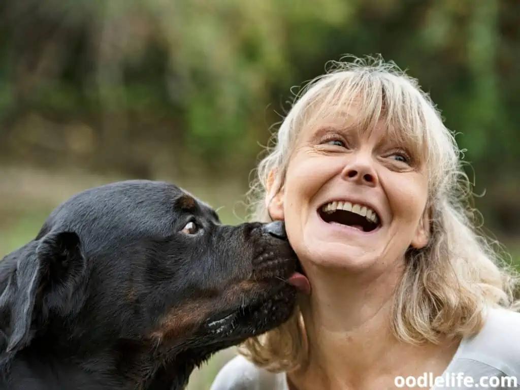
{"label": "floppy black ear of the dog", "polygon": [[34,324],[43,323],[50,312],[71,313],[85,273],[80,238],[68,231],[50,232],[4,262],[9,270],[0,295],[1,360],[28,345]]}

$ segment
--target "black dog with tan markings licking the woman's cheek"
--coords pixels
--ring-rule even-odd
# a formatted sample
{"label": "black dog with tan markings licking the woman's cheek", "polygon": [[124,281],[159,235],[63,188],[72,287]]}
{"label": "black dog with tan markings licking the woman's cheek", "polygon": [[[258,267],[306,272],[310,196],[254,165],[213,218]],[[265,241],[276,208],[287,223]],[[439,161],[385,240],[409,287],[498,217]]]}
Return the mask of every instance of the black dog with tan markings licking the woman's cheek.
{"label": "black dog with tan markings licking the woman's cheek", "polygon": [[0,388],[184,388],[289,318],[296,267],[281,223],[222,225],[172,184],[81,192],[0,262]]}

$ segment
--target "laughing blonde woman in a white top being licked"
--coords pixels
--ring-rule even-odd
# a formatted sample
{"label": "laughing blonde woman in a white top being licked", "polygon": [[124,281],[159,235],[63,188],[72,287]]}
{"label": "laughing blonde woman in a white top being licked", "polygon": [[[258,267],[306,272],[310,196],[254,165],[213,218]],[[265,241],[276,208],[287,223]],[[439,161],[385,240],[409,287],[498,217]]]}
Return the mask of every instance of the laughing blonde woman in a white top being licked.
{"label": "laughing blonde woman in a white top being licked", "polygon": [[284,220],[311,293],[212,390],[520,381],[517,279],[476,233],[466,183],[434,104],[393,64],[339,62],[311,82],[253,188],[254,219]]}

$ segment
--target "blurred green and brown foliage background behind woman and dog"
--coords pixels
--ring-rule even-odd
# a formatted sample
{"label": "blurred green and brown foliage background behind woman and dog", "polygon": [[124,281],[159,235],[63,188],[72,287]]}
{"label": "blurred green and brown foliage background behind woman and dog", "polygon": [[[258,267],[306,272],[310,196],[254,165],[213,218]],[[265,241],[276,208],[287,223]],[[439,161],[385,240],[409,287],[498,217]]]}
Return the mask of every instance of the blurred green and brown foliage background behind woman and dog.
{"label": "blurred green and brown foliage background behind woman and dog", "polygon": [[109,178],[178,180],[236,222],[291,88],[344,54],[418,77],[486,192],[485,227],[518,248],[517,0],[4,0],[0,251]]}

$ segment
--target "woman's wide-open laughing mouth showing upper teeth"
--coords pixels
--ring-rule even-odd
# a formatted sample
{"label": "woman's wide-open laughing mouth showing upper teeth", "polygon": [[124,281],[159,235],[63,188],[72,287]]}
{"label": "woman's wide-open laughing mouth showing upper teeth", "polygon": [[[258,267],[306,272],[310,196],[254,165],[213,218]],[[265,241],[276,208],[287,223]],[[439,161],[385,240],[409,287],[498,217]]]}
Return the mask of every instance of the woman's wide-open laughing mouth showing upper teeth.
{"label": "woman's wide-open laughing mouth showing upper teeth", "polygon": [[347,201],[328,202],[318,209],[318,214],[328,224],[350,226],[362,232],[372,232],[381,226],[381,218],[375,210]]}

